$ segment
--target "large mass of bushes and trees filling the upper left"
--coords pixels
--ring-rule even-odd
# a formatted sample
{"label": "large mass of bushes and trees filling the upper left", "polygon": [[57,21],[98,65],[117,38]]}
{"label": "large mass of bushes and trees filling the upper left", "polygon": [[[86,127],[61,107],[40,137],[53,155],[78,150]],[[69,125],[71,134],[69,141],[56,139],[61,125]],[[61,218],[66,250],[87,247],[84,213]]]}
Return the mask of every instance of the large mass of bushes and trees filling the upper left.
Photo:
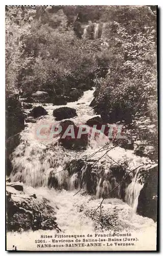
{"label": "large mass of bushes and trees filling the upper left", "polygon": [[24,93],[46,90],[69,94],[71,87],[88,81],[97,68],[93,47],[77,39],[72,27],[67,27],[62,9],[45,17],[24,23],[21,8],[7,9],[7,92],[21,89]]}

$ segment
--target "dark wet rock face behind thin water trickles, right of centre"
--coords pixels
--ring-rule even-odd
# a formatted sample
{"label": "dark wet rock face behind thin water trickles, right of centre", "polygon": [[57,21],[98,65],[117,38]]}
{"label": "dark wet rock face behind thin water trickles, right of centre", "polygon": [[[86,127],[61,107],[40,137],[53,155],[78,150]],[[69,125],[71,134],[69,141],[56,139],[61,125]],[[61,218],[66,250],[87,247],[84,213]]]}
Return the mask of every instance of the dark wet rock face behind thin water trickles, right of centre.
{"label": "dark wet rock face behind thin water trickles, right of centre", "polygon": [[108,172],[106,172],[104,166],[101,164],[98,165],[98,163],[95,165],[95,163],[96,161],[94,162],[92,159],[86,160],[85,163],[86,169],[82,181],[86,184],[87,191],[90,194],[96,195],[98,198],[119,198],[124,200],[125,189],[131,182],[129,176],[124,183],[122,182],[118,189],[115,189],[111,194],[110,191],[125,177],[125,167],[123,165],[113,164],[110,166]]}

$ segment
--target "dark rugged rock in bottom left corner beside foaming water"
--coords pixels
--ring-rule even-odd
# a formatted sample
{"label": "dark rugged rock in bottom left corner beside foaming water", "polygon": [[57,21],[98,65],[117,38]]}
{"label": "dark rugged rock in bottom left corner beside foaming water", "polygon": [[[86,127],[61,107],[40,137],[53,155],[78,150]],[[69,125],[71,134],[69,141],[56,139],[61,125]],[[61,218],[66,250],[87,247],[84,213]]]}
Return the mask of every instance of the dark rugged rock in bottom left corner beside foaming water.
{"label": "dark rugged rock in bottom left corner beside foaming water", "polygon": [[[7,186],[7,231],[49,230],[61,231],[56,222],[55,208],[44,197],[25,194]],[[10,191],[9,191],[10,190]],[[28,193],[27,189],[26,193]],[[29,189],[30,192],[30,189]]]}

